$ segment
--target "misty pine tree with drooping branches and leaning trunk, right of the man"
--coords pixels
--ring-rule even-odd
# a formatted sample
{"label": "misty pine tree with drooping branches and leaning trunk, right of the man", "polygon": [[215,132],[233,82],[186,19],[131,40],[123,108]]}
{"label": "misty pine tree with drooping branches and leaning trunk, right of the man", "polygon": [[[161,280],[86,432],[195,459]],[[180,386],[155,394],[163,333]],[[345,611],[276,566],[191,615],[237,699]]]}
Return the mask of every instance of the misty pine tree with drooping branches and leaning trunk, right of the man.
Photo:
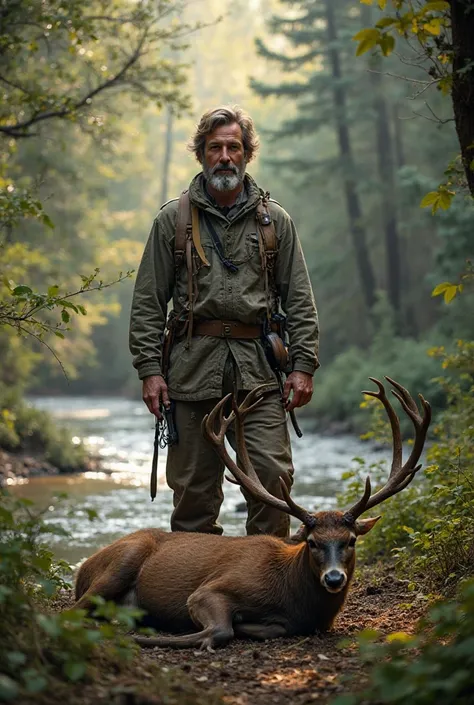
{"label": "misty pine tree with drooping branches and leaning trunk, right of the man", "polygon": [[337,169],[342,181],[352,246],[360,287],[367,310],[375,303],[376,280],[367,243],[367,232],[357,191],[357,164],[350,134],[349,86],[354,47],[351,36],[357,18],[351,18],[347,0],[282,0],[287,12],[274,16],[272,34],[281,35],[288,50],[274,51],[263,41],[259,53],[296,75],[279,85],[253,81],[261,96],[277,95],[295,101],[297,114],[275,133],[279,138],[311,135],[331,125],[336,133],[338,154],[333,160],[288,160],[286,165],[314,175],[318,167]]}

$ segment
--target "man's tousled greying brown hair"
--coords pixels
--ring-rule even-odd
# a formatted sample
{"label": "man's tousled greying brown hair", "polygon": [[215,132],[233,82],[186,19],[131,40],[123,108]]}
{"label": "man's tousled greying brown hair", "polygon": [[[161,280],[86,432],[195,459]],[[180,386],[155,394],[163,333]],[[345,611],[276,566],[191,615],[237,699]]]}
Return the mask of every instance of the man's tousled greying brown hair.
{"label": "man's tousled greying brown hair", "polygon": [[199,161],[203,159],[206,137],[211,132],[214,132],[216,127],[232,125],[234,122],[240,125],[242,130],[245,158],[247,162],[251,161],[257,153],[259,140],[252,118],[238,105],[234,105],[232,108],[224,105],[220,108],[206,110],[196,127],[194,137],[188,145],[189,150],[194,153],[196,159]]}

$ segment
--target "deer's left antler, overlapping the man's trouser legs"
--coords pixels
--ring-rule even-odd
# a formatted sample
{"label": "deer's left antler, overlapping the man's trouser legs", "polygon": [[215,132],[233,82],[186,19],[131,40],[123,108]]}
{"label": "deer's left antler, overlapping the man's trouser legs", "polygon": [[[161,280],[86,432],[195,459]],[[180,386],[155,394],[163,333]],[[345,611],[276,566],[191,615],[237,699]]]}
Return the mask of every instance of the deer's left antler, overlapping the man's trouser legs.
{"label": "deer's left antler, overlapping the man's trouser legs", "polygon": [[[264,391],[268,389],[268,385],[263,384],[256,387],[247,394],[240,406],[237,406],[235,397],[228,394],[224,399],[216,404],[214,409],[202,420],[202,433],[216,449],[218,455],[224,461],[228,470],[231,471],[234,479],[227,476],[230,482],[240,485],[252,495],[254,499],[263,502],[275,509],[279,509],[290,516],[299,519],[307,527],[314,527],[316,520],[314,516],[303,507],[298,506],[290,497],[288,487],[282,477],[280,484],[284,499],[275,497],[260,482],[260,479],[255,472],[255,469],[250,460],[244,436],[244,421],[247,414],[256,409],[263,401]],[[226,402],[232,397],[232,411],[229,416],[224,416],[223,407]],[[256,400],[256,401],[255,401]],[[218,431],[216,432],[216,418],[218,417]],[[235,422],[235,437],[237,441],[237,457],[243,466],[243,470],[229,456],[225,447],[225,434],[232,422]]]}

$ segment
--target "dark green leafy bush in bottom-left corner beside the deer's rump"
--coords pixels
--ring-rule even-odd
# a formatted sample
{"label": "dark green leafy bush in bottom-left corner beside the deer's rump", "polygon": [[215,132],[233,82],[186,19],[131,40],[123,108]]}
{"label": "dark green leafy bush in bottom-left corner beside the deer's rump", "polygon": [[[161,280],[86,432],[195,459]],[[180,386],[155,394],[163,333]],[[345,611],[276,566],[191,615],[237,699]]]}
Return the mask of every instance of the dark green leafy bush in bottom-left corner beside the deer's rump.
{"label": "dark green leafy bush in bottom-left corner beside the deer's rump", "polygon": [[46,525],[26,499],[0,494],[0,701],[44,692],[53,685],[80,680],[100,647],[110,658],[130,660],[136,647],[124,635],[138,610],[97,600],[96,623],[84,610],[53,613],[50,599],[68,587],[66,563],[53,562],[41,543]]}

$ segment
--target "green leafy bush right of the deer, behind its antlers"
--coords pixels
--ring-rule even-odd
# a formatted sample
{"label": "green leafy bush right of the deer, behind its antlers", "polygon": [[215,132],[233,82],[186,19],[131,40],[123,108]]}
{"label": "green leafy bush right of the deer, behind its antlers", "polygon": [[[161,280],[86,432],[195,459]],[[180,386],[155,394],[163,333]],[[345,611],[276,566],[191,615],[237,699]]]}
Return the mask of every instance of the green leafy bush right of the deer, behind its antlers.
{"label": "green leafy bush right of the deer, behind its antlers", "polygon": [[[438,348],[431,356],[447,373],[437,380],[448,406],[435,418],[436,443],[427,450],[424,471],[383,505],[383,518],[362,551],[365,558],[395,552],[405,576],[432,591],[449,591],[474,574],[474,343],[458,341],[454,353]],[[372,433],[380,439],[387,433],[380,432],[379,414]],[[374,485],[388,473],[381,466],[369,471]],[[360,496],[366,475],[362,461],[346,474],[342,504]]]}

